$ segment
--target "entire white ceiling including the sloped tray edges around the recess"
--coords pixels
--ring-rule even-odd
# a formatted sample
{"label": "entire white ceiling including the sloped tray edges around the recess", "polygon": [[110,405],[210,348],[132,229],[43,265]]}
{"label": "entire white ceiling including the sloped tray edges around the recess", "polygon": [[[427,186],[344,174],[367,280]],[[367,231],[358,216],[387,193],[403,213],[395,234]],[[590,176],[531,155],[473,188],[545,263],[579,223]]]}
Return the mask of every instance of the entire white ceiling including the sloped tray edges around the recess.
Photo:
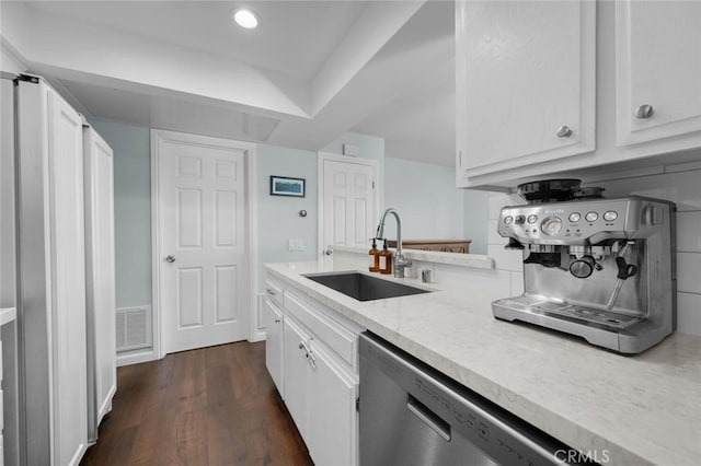
{"label": "entire white ceiling including the sloped tray edges around the recess", "polygon": [[[251,7],[261,27],[230,20]],[[81,112],[318,150],[346,130],[455,163],[451,1],[25,1],[2,37]]]}

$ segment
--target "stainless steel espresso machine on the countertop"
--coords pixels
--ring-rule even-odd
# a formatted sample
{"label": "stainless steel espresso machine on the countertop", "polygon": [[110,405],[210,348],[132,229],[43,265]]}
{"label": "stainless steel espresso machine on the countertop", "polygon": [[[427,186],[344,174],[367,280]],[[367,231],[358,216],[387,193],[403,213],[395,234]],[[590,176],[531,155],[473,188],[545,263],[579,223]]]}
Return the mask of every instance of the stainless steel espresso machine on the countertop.
{"label": "stainless steel espresso machine on the countertop", "polygon": [[640,353],[676,328],[675,207],[601,191],[577,179],[519,186],[528,203],[504,207],[498,233],[524,252],[525,292],[492,311]]}

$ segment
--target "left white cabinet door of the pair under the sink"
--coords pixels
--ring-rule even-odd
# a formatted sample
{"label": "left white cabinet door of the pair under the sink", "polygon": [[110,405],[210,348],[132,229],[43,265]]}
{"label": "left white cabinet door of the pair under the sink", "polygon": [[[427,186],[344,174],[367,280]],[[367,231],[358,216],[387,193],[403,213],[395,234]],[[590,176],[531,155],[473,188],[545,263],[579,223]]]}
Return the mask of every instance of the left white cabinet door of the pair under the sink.
{"label": "left white cabinet door of the pair under the sink", "polygon": [[[289,411],[297,430],[311,451],[310,429],[315,427],[309,422],[309,398],[311,368],[307,362],[303,348],[309,343],[309,336],[291,318],[283,322],[283,365],[285,366],[283,387],[287,410]],[[303,348],[300,346],[303,345]]]}

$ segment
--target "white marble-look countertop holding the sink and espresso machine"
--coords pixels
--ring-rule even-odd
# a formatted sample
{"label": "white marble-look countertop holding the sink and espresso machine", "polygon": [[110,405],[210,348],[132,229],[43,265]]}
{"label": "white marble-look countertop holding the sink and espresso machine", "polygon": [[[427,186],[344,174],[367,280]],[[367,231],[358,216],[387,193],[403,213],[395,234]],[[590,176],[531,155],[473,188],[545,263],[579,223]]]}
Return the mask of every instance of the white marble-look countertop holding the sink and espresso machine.
{"label": "white marble-look countertop holding the sink and espresso machine", "polygon": [[700,337],[674,334],[643,354],[624,357],[496,321],[491,303],[505,296],[469,283],[460,290],[433,283],[433,293],[359,302],[301,276],[354,270],[338,263],[266,269],[570,446],[596,451],[599,458],[607,451],[608,464],[699,464]]}

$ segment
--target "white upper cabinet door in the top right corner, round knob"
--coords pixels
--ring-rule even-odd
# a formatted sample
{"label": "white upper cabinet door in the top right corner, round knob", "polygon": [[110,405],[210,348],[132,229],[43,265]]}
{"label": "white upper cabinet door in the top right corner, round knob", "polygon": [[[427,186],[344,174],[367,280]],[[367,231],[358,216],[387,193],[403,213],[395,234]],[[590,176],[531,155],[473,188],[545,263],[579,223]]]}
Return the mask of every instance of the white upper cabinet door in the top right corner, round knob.
{"label": "white upper cabinet door in the top right corner, round knob", "polygon": [[701,130],[701,2],[619,1],[619,145]]}

